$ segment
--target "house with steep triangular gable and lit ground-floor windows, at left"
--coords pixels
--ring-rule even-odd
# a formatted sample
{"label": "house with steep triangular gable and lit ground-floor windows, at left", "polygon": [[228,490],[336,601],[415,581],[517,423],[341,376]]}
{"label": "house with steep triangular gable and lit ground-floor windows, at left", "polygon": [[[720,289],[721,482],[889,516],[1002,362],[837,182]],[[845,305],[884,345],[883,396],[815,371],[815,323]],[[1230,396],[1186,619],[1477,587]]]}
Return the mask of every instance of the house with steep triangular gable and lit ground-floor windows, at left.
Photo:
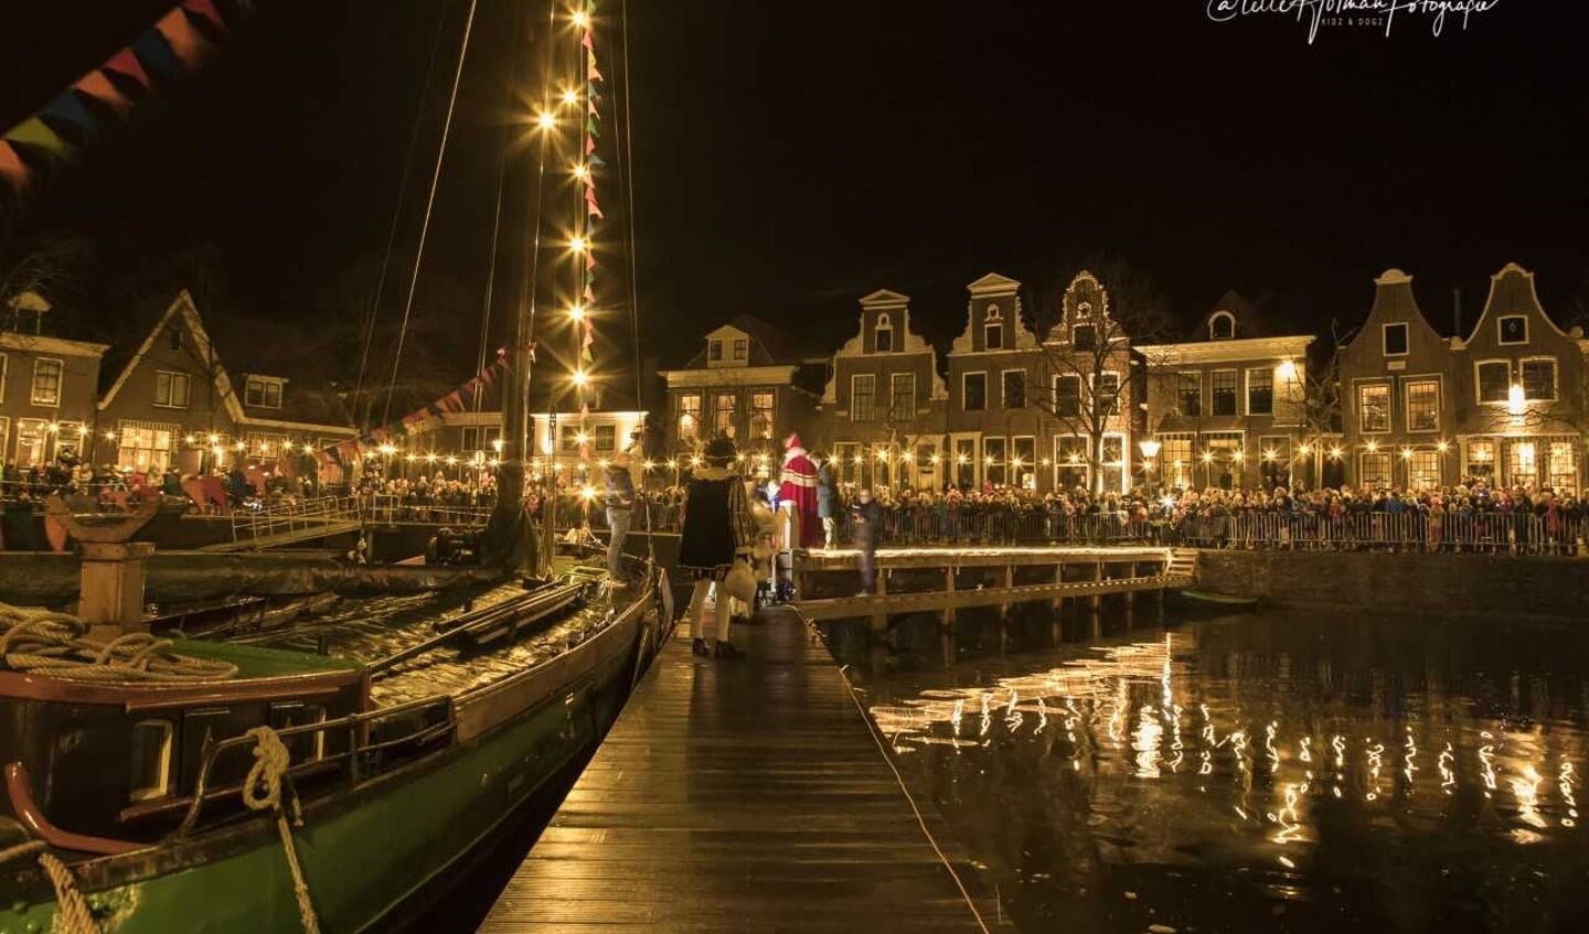
{"label": "house with steep triangular gable and lit ground-floor windows, at left", "polygon": [[[243,369],[234,375],[222,359]],[[100,437],[114,442],[116,462],[183,473],[237,461],[269,467],[291,450],[303,453],[303,446],[327,448],[354,437],[335,392],[307,373],[297,380],[254,369],[251,359],[243,340],[222,354],[192,295],[176,295],[100,399]]]}

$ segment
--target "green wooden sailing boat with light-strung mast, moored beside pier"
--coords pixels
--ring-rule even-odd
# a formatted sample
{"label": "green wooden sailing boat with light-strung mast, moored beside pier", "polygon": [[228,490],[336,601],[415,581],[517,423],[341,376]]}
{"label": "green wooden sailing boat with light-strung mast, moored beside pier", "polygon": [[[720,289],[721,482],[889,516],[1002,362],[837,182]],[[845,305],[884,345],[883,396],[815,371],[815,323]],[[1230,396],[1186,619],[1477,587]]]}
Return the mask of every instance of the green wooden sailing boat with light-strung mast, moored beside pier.
{"label": "green wooden sailing boat with light-strung mast, moored beside pier", "polygon": [[[548,41],[566,40],[585,94],[540,125],[578,125],[591,156],[593,21],[556,17]],[[510,504],[531,451],[528,342],[515,353]],[[617,589],[558,578],[516,505],[493,534],[540,573],[381,659],[175,640],[151,662],[162,646],[132,637],[103,653],[124,666],[73,666],[70,618],[0,612],[0,929],[365,931],[435,893],[601,739],[664,635],[653,570]]]}

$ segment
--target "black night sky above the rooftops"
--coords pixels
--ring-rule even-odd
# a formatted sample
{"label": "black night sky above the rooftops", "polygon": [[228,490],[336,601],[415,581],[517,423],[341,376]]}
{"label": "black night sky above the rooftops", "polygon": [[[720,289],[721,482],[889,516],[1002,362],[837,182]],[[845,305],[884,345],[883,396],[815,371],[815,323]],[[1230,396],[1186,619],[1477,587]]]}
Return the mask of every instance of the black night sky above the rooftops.
{"label": "black night sky above the rooftops", "polygon": [[[0,11],[0,35],[37,40],[0,64],[6,124],[164,5],[30,6],[48,10]],[[1508,261],[1540,273],[1548,308],[1589,289],[1576,3],[1502,0],[1438,38],[1400,13],[1389,38],[1324,25],[1311,44],[1289,17],[1212,22],[1206,0],[629,8],[640,308],[664,364],[736,313],[836,346],[876,288],[910,294],[947,342],[984,272],[1030,302],[1096,249],[1154,276],[1187,322],[1235,288],[1324,330],[1367,313],[1392,265],[1443,329],[1451,289],[1471,322]],[[17,237],[83,230],[106,270],[210,241],[240,308],[310,315],[308,295],[385,246],[421,114],[412,248],[466,10],[261,0],[222,60],[100,143]],[[618,10],[597,5],[607,40]],[[534,49],[515,46],[508,0],[477,16],[424,275],[478,305],[510,57]]]}

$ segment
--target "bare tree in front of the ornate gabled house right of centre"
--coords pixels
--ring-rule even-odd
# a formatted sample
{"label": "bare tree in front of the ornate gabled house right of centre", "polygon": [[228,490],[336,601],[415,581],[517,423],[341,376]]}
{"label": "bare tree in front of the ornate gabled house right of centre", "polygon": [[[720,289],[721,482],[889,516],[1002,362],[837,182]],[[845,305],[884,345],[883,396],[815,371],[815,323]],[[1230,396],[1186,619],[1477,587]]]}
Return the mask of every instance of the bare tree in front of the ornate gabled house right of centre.
{"label": "bare tree in front of the ornate gabled house right of centre", "polygon": [[1142,389],[1131,380],[1131,343],[1170,334],[1166,302],[1149,276],[1123,259],[1092,254],[1073,276],[1050,284],[1042,305],[1050,324],[1042,340],[1047,389],[1036,392],[1034,402],[1063,432],[1085,440],[1090,486],[1103,492],[1103,465],[1115,459],[1130,464],[1130,451],[1108,451],[1108,442],[1127,434]]}

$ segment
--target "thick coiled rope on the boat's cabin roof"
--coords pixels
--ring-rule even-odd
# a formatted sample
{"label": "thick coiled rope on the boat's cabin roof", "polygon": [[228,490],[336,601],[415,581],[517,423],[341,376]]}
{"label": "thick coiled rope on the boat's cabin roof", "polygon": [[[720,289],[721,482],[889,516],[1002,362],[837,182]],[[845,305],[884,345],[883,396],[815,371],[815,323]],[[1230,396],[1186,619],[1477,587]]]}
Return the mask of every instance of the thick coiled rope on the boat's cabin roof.
{"label": "thick coiled rope on the boat's cabin roof", "polygon": [[237,675],[227,661],[175,654],[168,639],[129,632],[102,642],[67,613],[0,604],[0,669],[73,681],[224,681]]}

